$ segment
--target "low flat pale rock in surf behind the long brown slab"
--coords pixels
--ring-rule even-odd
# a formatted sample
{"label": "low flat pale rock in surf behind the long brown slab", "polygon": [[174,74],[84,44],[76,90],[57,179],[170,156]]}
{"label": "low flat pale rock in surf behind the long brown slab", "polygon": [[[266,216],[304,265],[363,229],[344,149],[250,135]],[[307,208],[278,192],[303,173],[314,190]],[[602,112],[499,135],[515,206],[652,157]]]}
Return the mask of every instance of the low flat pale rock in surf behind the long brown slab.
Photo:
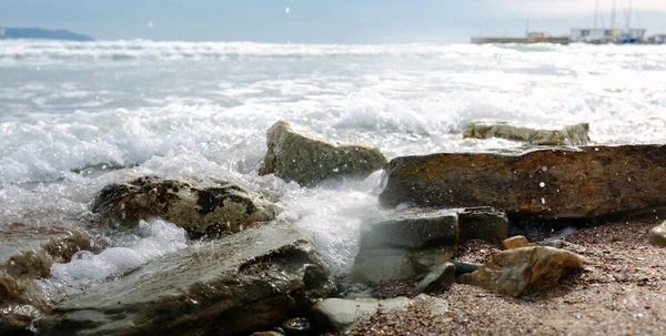
{"label": "low flat pale rock in surf behind the long brown slab", "polygon": [[589,142],[589,124],[579,123],[562,130],[538,130],[509,125],[505,122],[472,122],[463,138],[502,138],[538,145],[585,145]]}

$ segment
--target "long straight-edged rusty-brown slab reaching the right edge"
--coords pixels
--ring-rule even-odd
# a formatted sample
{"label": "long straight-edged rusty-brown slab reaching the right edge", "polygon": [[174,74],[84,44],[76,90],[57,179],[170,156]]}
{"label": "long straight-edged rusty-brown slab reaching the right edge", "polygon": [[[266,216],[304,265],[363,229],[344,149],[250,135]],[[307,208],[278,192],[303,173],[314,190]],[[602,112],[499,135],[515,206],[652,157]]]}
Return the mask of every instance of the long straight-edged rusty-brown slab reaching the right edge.
{"label": "long straight-edged rusty-brown slab reaching the right edge", "polygon": [[514,217],[586,218],[664,206],[664,190],[666,146],[588,146],[396,157],[380,202],[491,205]]}

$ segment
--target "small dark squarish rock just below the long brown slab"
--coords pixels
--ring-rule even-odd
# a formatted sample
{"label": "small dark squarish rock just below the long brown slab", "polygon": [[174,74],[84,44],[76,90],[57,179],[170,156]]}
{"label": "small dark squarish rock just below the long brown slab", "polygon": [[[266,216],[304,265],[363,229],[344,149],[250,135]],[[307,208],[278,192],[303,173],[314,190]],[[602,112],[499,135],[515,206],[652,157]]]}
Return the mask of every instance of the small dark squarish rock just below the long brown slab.
{"label": "small dark squarish rock just below the long brown slab", "polygon": [[508,235],[508,217],[491,206],[461,208],[458,220],[462,241],[498,243]]}

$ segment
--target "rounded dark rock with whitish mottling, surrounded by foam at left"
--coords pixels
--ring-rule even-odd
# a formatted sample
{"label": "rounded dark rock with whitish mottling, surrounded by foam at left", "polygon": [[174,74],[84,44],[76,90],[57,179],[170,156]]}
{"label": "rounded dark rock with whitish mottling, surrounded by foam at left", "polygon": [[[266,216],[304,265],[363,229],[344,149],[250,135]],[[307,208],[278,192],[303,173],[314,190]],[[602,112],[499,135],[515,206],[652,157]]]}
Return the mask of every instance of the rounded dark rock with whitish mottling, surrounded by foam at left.
{"label": "rounded dark rock with whitish mottling, surrounded by foam at left", "polygon": [[97,194],[91,210],[103,223],[121,230],[161,217],[193,236],[235,233],[273,221],[281,212],[276,204],[239,185],[194,176],[143,176],[113,183]]}

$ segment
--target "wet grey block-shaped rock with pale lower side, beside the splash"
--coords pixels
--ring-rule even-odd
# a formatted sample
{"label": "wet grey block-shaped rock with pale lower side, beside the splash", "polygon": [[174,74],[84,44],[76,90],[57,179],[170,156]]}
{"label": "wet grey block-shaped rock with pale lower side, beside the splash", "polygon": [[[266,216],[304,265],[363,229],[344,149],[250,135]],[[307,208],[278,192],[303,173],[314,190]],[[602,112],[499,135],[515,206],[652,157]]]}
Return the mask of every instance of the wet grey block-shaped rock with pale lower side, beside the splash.
{"label": "wet grey block-shaped rock with pale lower side, beside the splash", "polygon": [[451,259],[460,240],[458,215],[450,210],[386,213],[361,227],[352,279],[376,286],[410,278]]}

